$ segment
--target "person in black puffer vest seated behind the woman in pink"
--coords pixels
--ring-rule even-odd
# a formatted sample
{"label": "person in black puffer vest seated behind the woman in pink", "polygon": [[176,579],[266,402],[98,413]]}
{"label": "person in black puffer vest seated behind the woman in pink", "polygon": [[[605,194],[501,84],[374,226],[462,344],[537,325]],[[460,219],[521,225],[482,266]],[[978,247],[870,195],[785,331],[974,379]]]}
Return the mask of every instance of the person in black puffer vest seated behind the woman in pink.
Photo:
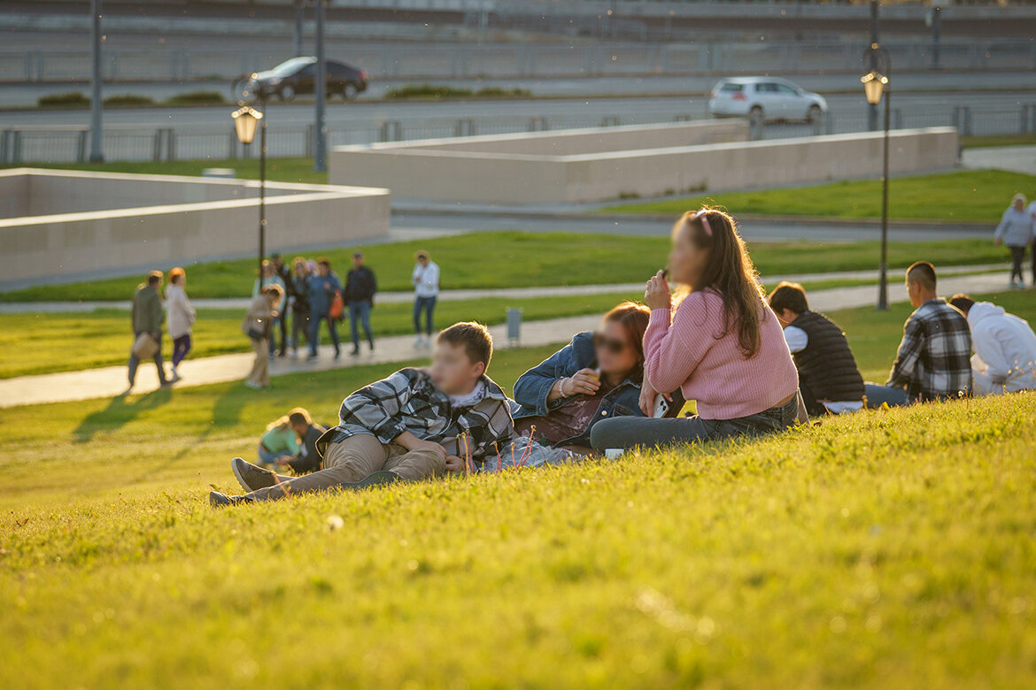
{"label": "person in black puffer vest seated behind the woman in pink", "polygon": [[809,310],[798,282],[781,282],[770,308],[784,328],[784,339],[799,369],[799,390],[810,415],[863,409],[863,377],[845,334],[833,321]]}

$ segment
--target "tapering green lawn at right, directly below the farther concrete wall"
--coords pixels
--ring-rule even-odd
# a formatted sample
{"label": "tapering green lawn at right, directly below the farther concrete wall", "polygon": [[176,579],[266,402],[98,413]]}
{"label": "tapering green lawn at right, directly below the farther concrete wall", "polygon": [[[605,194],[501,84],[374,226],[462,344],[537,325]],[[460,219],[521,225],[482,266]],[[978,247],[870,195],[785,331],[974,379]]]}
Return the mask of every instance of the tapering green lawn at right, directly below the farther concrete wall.
{"label": "tapering green lawn at right, directly below the farther concrete wall", "polygon": [[[1036,176],[999,170],[967,170],[899,177],[889,183],[889,217],[988,222],[990,232],[1017,192],[1032,196]],[[610,206],[602,213],[682,213],[702,204],[731,213],[880,218],[881,180],[856,180],[786,189],[717,191],[693,199],[665,199]]]}

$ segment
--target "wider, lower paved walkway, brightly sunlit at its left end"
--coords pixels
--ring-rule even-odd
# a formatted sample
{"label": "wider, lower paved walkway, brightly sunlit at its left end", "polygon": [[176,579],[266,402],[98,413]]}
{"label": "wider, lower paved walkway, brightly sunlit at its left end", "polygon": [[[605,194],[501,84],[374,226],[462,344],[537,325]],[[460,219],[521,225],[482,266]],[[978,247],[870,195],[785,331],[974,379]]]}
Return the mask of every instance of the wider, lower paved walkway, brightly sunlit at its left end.
{"label": "wider, lower paved walkway, brightly sunlit at its left end", "polygon": [[[1006,289],[1006,279],[1002,274],[958,275],[947,276],[940,280],[942,294],[951,295],[957,292],[987,293]],[[876,301],[875,286],[856,288],[838,288],[819,290],[810,293],[810,306],[818,311],[867,306]],[[894,280],[889,286],[891,302],[906,301],[906,290],[902,282]],[[528,322],[522,327],[520,346],[540,346],[564,342],[569,337],[583,330],[596,328],[599,314],[573,317],[570,319],[552,319],[549,321]],[[494,326],[490,329],[497,349],[507,349],[507,329],[505,326]],[[303,360],[276,359],[271,362],[270,373],[278,377],[284,373],[299,373],[324,371],[332,368],[344,368],[364,364],[387,364],[423,360],[428,357],[428,351],[415,350],[411,336],[395,336],[381,338],[374,353],[364,352],[359,357],[350,357],[347,349],[343,349],[342,358],[332,359],[330,346],[324,346],[320,351],[320,360],[306,362]],[[254,355],[240,353],[220,355],[195,359],[181,364],[183,381],[177,388],[203,386],[228,381],[243,381],[252,367]],[[40,402],[58,402],[84,400],[96,397],[112,397],[118,395],[126,387],[126,370],[124,366],[109,366],[82,371],[63,373],[47,373],[33,377],[20,377],[0,381],[0,408]],[[275,379],[274,386],[277,386]],[[159,388],[159,379],[153,365],[141,364],[137,374],[135,393],[147,393]],[[257,392],[257,395],[263,393]]]}

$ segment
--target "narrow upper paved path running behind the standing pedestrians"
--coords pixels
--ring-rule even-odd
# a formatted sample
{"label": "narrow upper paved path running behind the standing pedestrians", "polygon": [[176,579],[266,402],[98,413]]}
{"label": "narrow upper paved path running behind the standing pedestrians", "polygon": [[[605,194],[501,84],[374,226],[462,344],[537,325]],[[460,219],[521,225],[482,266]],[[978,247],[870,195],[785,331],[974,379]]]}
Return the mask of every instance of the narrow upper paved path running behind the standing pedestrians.
{"label": "narrow upper paved path running behind the standing pedestrians", "polygon": [[[1007,264],[983,264],[981,266],[947,266],[940,267],[940,275],[960,275],[962,273],[977,273],[981,271],[1006,271]],[[767,284],[775,284],[781,280],[793,280],[795,282],[818,282],[827,280],[876,280],[877,271],[869,269],[866,271],[838,271],[834,273],[798,273],[789,275],[764,276],[762,280]],[[898,275],[895,276],[898,279]],[[503,297],[513,299],[528,299],[533,297],[580,297],[585,295],[616,295],[639,292],[643,290],[643,282],[621,282],[606,286],[553,286],[545,288],[511,288],[500,290],[443,290],[439,293],[439,301],[460,301],[477,300],[490,297]],[[413,300],[411,292],[384,292],[378,293],[377,302],[379,304],[408,303]],[[248,309],[250,299],[192,299],[191,303],[198,309]],[[128,310],[130,300],[117,302],[87,301],[87,302],[8,302],[0,303],[0,313],[71,313],[93,311],[95,309],[123,309]]]}

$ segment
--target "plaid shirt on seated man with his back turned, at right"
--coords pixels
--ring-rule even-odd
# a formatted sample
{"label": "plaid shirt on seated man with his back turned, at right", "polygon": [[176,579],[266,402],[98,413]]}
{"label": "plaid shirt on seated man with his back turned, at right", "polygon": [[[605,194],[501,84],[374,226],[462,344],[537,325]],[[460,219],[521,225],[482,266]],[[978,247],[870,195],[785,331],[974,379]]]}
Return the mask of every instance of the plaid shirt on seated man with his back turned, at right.
{"label": "plaid shirt on seated man with his back turned, at right", "polygon": [[968,320],[941,299],[919,306],[903,326],[903,339],[889,386],[904,387],[911,399],[938,400],[972,388]]}

